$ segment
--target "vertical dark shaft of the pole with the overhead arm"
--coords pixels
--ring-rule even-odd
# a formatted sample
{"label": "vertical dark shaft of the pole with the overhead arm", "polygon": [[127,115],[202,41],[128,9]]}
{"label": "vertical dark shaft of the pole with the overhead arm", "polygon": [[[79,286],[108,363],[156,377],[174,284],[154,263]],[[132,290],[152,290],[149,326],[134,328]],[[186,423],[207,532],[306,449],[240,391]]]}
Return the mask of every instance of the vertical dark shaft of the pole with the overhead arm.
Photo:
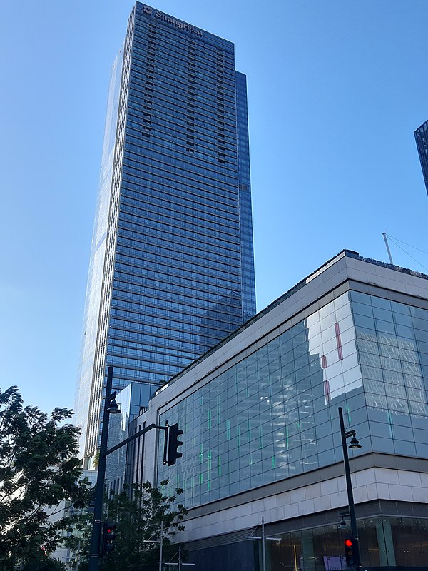
{"label": "vertical dark shaft of the pole with the overhead arm", "polygon": [[96,475],[95,507],[93,510],[93,524],[92,524],[92,537],[91,537],[91,555],[89,557],[88,571],[98,571],[98,565],[100,559],[99,550],[100,550],[100,538],[101,538],[101,520],[103,517],[104,477],[106,476],[108,420],[110,417],[109,413],[107,412],[107,408],[108,405],[110,405],[109,397],[111,395],[112,384],[113,384],[113,367],[108,367],[106,398],[104,400],[103,428],[101,430],[100,457],[98,460],[98,472]]}

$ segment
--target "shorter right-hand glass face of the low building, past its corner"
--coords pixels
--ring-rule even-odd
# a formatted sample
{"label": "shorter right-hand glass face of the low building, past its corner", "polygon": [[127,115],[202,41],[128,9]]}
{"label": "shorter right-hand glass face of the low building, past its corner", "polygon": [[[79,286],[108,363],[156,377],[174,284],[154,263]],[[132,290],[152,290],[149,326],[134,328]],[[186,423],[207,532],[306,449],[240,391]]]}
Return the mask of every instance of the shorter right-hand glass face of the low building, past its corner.
{"label": "shorter right-hand glass face of the low building, past its corner", "polygon": [[351,298],[371,448],[428,458],[428,310]]}

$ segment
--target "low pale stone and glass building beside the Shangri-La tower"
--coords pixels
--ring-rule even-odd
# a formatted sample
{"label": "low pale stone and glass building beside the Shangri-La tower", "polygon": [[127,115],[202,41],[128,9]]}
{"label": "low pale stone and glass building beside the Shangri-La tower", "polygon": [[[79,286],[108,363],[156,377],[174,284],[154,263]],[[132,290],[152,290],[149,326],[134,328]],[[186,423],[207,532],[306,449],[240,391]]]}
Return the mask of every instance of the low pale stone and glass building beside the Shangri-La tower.
{"label": "low pale stone and glass building beside the Shangri-La tower", "polygon": [[341,406],[362,569],[427,570],[427,389],[428,276],[343,251],[158,390],[132,430],[178,423],[183,458],[152,430],[133,480],[183,488],[195,569],[262,570],[262,517],[268,571],[345,568]]}

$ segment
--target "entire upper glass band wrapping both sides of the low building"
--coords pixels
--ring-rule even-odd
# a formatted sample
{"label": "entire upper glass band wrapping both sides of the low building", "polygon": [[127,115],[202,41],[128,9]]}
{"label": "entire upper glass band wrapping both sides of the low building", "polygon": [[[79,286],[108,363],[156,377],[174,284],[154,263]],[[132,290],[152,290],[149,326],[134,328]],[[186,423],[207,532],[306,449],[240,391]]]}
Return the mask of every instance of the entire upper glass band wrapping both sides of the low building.
{"label": "entire upper glass band wrapping both sides of the low building", "polygon": [[171,490],[194,507],[342,461],[338,406],[351,455],[427,458],[427,379],[428,311],[345,293],[161,415],[184,431]]}

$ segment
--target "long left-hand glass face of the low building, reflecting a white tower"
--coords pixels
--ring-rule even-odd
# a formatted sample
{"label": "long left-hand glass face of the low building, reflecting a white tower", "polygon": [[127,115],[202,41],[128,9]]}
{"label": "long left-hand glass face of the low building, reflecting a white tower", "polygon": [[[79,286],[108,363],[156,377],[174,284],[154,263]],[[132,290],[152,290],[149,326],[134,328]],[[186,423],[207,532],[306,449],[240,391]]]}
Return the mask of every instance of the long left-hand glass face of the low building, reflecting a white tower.
{"label": "long left-hand glass face of the low building, reflecting a white tower", "polygon": [[167,471],[160,450],[158,481],[194,507],[335,463],[340,404],[368,437],[347,294],[161,415],[183,429],[183,458]]}

